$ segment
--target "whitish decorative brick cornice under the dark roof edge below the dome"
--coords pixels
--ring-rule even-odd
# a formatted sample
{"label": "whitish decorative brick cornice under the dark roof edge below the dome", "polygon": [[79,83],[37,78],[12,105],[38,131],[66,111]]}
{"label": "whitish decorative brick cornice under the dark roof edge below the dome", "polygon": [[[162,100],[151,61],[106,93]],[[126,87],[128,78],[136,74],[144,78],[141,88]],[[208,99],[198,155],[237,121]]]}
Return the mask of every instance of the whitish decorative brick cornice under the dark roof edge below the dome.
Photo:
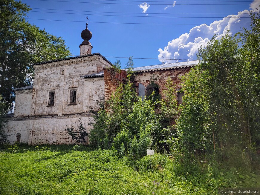
{"label": "whitish decorative brick cornice under the dark roof edge below the dome", "polygon": [[105,67],[110,67],[109,63],[103,60],[100,56],[87,56],[85,58],[79,58],[79,59],[69,59],[66,61],[60,61],[60,62],[52,62],[48,64],[42,64],[42,65],[34,65],[34,70],[45,70],[60,66],[67,66],[67,65],[77,65],[77,64],[83,64],[87,62],[94,62],[98,61]]}

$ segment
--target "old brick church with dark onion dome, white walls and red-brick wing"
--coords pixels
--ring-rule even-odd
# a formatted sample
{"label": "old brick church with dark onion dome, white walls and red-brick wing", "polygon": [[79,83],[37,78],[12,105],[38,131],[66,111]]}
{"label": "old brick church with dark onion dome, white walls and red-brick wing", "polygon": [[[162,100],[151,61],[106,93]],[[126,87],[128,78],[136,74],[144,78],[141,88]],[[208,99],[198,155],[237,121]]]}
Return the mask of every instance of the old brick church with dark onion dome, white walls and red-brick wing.
{"label": "old brick church with dark onion dome, white walls and red-brick wing", "polygon": [[[99,102],[108,100],[116,87],[126,82],[126,70],[117,73],[100,53],[91,53],[88,24],[81,37],[80,56],[34,64],[33,85],[14,90],[14,113],[5,117],[11,144],[73,144],[66,125],[77,128],[80,120],[89,132]],[[133,86],[142,98],[153,91],[161,94],[170,77],[176,84],[174,95],[181,103],[181,76],[196,64],[190,61],[135,67]]]}

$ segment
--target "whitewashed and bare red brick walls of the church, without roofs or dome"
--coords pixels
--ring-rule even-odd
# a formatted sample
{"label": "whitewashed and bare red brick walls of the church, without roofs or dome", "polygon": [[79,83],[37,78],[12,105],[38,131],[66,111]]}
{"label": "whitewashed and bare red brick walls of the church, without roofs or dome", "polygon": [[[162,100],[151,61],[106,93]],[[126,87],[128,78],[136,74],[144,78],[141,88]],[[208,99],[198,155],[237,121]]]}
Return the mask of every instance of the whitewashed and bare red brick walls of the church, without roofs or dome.
{"label": "whitewashed and bare red brick walls of the church, without roofs or dome", "polygon": [[[89,131],[89,122],[93,120],[92,111],[99,110],[99,102],[108,100],[117,87],[126,83],[127,72],[117,73],[111,65],[97,56],[73,59],[68,62],[55,62],[37,65],[32,90],[16,92],[16,114],[7,119],[6,131],[11,134],[9,140],[14,143],[17,133],[21,142],[28,144],[71,144],[66,125],[77,128],[79,119]],[[104,77],[83,78],[104,71]],[[168,77],[181,88],[181,76],[190,71],[190,67],[172,70],[157,70],[134,73],[131,82],[138,94],[139,83],[146,88],[152,82],[159,85],[159,93],[166,89]],[[77,89],[76,104],[70,105],[70,90]],[[48,105],[49,91],[55,92],[54,105]],[[176,93],[177,95],[177,93]],[[27,101],[28,99],[28,101]],[[174,120],[171,121],[174,124]]]}

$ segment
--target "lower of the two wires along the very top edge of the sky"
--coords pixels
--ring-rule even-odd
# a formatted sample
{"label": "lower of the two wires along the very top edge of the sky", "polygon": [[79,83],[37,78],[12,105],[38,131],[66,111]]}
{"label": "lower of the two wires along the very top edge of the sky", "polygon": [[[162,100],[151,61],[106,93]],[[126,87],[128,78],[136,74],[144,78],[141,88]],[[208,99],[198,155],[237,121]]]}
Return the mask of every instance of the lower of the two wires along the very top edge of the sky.
{"label": "lower of the two wires along the very top edge of the sky", "polygon": [[[139,5],[138,3],[102,3],[102,2],[82,2],[82,1],[57,1],[57,0],[35,0],[35,1],[53,1],[53,2],[67,2],[67,3],[91,3],[91,4],[119,4],[119,5]],[[224,3],[224,1],[222,1]],[[248,5],[248,3],[225,3],[225,4],[179,4],[178,1],[176,2],[175,5]],[[252,4],[257,4],[257,3],[252,3]],[[172,4],[149,4],[149,5],[172,5]]]}

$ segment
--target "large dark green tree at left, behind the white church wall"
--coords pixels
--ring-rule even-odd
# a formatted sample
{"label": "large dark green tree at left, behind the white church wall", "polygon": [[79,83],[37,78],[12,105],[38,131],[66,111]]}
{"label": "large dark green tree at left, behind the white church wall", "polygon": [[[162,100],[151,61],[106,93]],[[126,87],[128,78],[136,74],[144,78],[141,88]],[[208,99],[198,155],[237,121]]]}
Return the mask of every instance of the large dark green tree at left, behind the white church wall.
{"label": "large dark green tree at left, behind the white church wall", "polygon": [[6,101],[6,110],[12,108],[15,100],[13,89],[31,84],[31,64],[71,54],[61,37],[48,34],[25,20],[29,10],[21,1],[0,2],[0,94]]}

